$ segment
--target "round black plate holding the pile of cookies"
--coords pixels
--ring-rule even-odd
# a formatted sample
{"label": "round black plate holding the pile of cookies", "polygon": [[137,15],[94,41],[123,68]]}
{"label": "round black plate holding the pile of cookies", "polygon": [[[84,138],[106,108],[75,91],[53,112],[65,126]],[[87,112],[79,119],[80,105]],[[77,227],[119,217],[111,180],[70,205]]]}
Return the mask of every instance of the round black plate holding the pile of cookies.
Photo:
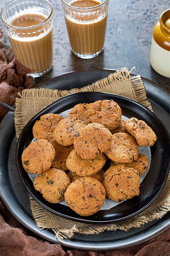
{"label": "round black plate holding the pile of cookies", "polygon": [[[72,211],[68,206],[61,205],[59,203],[52,204],[43,199],[41,193],[37,192],[33,183],[30,180],[27,172],[22,167],[21,156],[23,150],[30,144],[33,139],[32,127],[36,120],[39,120],[42,114],[46,113],[61,113],[74,107],[78,103],[90,103],[96,100],[113,99],[117,102],[121,109],[122,114],[127,117],[136,117],[144,120],[155,131],[157,135],[156,144],[151,147],[151,165],[148,174],[142,181],[140,186],[140,195],[133,197],[130,200],[124,201],[121,204],[111,208],[110,210],[100,210],[96,214],[82,217]],[[20,174],[20,177],[27,188],[29,194],[44,208],[50,210],[60,216],[85,222],[85,223],[113,223],[128,219],[148,207],[159,196],[164,188],[168,170],[169,170],[169,152],[170,142],[169,134],[163,125],[163,123],[155,116],[154,113],[149,111],[143,105],[135,102],[134,100],[125,98],[123,96],[108,94],[108,93],[96,93],[96,92],[84,92],[75,93],[58,100],[57,102],[49,105],[43,111],[34,116],[24,127],[18,143],[16,146],[16,165]]]}

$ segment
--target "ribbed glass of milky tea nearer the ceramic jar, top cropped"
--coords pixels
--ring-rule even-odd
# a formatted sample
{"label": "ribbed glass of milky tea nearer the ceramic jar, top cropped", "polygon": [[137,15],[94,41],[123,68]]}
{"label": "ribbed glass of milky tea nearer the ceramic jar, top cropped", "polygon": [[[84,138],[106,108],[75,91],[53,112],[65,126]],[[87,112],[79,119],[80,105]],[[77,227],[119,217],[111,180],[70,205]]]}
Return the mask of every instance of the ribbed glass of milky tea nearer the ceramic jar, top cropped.
{"label": "ribbed glass of milky tea nearer the ceramic jar, top cropped", "polygon": [[103,51],[109,0],[61,0],[72,52],[91,59]]}

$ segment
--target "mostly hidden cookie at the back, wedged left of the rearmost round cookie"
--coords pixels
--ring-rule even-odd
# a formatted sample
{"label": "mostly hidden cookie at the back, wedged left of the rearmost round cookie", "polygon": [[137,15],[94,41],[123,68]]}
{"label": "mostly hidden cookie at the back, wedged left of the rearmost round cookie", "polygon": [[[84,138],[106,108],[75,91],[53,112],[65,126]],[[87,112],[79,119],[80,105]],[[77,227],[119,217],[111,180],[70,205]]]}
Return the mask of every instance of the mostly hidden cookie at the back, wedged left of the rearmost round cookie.
{"label": "mostly hidden cookie at the back, wedged left of the rearmost round cookie", "polygon": [[85,125],[88,125],[90,123],[90,117],[88,116],[88,109],[92,103],[79,103],[74,106],[74,108],[70,111],[68,117],[77,117],[82,122],[84,122]]}

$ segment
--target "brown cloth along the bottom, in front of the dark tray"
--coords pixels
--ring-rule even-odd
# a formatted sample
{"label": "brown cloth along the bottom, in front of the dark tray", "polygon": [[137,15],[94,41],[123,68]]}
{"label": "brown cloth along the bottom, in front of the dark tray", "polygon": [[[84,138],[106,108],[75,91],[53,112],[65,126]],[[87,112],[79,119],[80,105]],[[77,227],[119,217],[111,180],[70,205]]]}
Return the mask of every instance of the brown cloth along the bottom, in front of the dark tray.
{"label": "brown cloth along the bottom, in front of the dark tray", "polygon": [[32,236],[0,202],[0,255],[1,256],[169,256],[170,229],[147,242],[108,252],[62,250],[59,244],[51,244]]}

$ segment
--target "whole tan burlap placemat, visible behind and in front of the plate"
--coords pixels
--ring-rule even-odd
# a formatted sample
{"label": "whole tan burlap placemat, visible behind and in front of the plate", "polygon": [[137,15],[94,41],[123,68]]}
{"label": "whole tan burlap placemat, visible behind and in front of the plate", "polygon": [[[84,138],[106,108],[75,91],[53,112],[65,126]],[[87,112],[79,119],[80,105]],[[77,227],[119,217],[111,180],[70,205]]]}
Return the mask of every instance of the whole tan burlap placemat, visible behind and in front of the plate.
{"label": "whole tan burlap placemat, visible behind and in front of the plate", "polygon": [[[150,102],[147,100],[145,87],[140,76],[131,76],[127,68],[121,69],[107,78],[82,87],[81,89],[71,90],[50,90],[50,89],[29,89],[23,90],[16,99],[15,109],[15,129],[16,137],[19,137],[20,132],[26,123],[39,111],[47,107],[49,104],[66,96],[70,93],[80,91],[100,91],[119,94],[128,98],[134,99],[152,110]],[[71,221],[60,217],[45,210],[36,201],[30,198],[30,206],[33,217],[38,227],[50,228],[56,234],[58,241],[63,238],[71,238],[74,233],[94,234],[104,230],[124,230],[127,231],[133,227],[141,225],[163,217],[170,210],[170,176],[166,182],[165,188],[156,199],[156,201],[141,214],[138,214],[131,219],[121,221],[119,223],[108,225],[90,225],[76,221]]]}

